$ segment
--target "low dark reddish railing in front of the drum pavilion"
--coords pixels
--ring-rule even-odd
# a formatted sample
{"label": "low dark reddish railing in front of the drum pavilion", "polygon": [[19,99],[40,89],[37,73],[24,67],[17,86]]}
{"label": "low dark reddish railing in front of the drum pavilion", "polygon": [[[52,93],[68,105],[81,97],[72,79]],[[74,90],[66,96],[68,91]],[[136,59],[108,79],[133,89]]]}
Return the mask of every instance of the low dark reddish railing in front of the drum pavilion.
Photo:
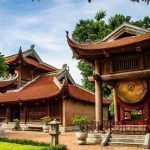
{"label": "low dark reddish railing in front of the drum pavilion", "polygon": [[150,131],[150,120],[147,121],[130,121],[130,124],[115,121],[90,122],[88,125],[89,132],[110,132],[113,134],[135,134],[142,135]]}

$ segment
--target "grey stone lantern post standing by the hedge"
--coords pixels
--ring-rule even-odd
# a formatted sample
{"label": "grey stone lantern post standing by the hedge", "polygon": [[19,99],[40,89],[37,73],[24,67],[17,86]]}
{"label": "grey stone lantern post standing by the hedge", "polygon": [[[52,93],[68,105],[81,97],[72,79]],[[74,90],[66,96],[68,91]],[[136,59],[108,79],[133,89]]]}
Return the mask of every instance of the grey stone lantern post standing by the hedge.
{"label": "grey stone lantern post standing by the hedge", "polygon": [[59,124],[60,122],[54,119],[50,122],[51,145],[55,146],[59,144]]}

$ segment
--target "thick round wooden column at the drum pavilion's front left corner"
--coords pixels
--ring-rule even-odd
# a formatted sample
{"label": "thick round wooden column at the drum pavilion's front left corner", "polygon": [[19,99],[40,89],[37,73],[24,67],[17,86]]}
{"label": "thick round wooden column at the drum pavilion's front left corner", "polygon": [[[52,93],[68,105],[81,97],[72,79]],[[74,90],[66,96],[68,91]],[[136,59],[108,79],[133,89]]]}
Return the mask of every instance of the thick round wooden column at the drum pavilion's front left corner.
{"label": "thick round wooden column at the drum pavilion's front left corner", "polygon": [[103,98],[102,98],[102,81],[100,77],[100,61],[95,59],[95,74],[98,79],[95,80],[95,120],[96,122],[103,121]]}

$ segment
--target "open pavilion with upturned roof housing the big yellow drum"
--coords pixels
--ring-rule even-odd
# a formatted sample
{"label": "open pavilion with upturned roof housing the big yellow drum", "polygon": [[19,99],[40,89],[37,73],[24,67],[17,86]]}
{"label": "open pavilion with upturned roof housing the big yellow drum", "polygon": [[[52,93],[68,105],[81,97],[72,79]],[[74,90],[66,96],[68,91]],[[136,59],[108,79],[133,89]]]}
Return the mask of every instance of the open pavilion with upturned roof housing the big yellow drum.
{"label": "open pavilion with upturned roof housing the big yellow drum", "polygon": [[104,120],[105,82],[114,90],[116,123],[149,126],[150,30],[123,23],[100,42],[78,43],[69,38],[68,32],[67,42],[76,58],[85,60],[95,70],[95,120]]}

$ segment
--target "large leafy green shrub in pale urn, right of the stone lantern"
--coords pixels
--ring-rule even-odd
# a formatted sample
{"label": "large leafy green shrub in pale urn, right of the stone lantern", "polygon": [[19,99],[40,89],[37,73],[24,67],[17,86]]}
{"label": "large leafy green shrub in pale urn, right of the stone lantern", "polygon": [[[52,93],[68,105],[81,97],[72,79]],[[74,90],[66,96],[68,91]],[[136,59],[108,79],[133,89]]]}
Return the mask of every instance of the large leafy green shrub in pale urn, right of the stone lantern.
{"label": "large leafy green shrub in pale urn, right of the stone lantern", "polygon": [[73,124],[78,126],[79,131],[76,132],[76,138],[78,144],[86,144],[87,139],[87,127],[88,127],[88,119],[86,116],[74,116],[72,118]]}

